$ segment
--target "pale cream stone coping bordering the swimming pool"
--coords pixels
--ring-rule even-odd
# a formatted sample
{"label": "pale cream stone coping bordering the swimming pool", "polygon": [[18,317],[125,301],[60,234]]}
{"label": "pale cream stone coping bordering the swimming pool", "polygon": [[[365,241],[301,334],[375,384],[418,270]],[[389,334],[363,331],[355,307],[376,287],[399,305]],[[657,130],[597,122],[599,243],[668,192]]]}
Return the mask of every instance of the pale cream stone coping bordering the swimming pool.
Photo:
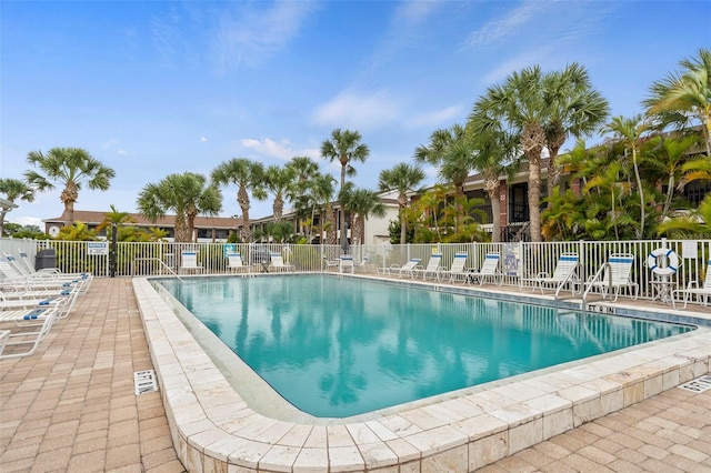
{"label": "pale cream stone coping bordering the swimming pool", "polygon": [[[701,328],[379,419],[287,422],[248,405],[147,278],[133,279],[133,291],[173,444],[188,471],[472,471],[710,372],[711,330]],[[491,293],[504,299],[488,286]]]}

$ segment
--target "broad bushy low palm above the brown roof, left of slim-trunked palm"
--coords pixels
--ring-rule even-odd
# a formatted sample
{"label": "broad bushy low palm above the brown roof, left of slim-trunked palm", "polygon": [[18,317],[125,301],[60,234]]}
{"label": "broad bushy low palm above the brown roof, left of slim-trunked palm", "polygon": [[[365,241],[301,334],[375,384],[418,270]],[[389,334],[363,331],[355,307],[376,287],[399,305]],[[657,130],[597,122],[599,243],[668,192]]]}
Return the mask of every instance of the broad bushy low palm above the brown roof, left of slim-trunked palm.
{"label": "broad bushy low palm above the brown roof, left of slim-trunked palm", "polygon": [[176,241],[192,241],[194,219],[199,213],[217,215],[222,209],[222,194],[202,174],[170,174],[158,183],[147,184],[138,198],[141,215],[156,222],[169,210],[176,212]]}

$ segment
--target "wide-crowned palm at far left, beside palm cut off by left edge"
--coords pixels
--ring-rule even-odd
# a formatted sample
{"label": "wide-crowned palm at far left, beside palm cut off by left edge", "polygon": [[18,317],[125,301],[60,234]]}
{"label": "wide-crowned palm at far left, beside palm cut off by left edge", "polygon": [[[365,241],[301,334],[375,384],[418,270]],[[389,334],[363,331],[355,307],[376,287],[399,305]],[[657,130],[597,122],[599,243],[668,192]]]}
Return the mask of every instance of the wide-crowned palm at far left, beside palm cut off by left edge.
{"label": "wide-crowned palm at far left, beside palm cut off by left edge", "polygon": [[106,191],[111,179],[116,175],[113,169],[103,165],[80,148],[52,148],[42,154],[31,151],[27,155],[30,164],[38,170],[29,170],[24,179],[29,185],[38,191],[54,189],[54,183],[64,187],[60,200],[64,204],[64,224],[74,221],[74,202],[79,199],[79,191],[86,181],[91,190]]}

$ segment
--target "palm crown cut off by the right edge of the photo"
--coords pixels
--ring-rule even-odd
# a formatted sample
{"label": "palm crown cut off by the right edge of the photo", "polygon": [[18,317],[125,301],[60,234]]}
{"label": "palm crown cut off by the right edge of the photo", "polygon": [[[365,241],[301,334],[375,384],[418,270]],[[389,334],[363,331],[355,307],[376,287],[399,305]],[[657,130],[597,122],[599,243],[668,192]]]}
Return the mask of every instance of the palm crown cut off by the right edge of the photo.
{"label": "palm crown cut off by the right edge of the photo", "polygon": [[685,128],[699,120],[707,157],[711,157],[711,49],[701,48],[698,58],[683,59],[679,64],[683,72],[652,83],[651,97],[643,104],[662,129],[668,124]]}

